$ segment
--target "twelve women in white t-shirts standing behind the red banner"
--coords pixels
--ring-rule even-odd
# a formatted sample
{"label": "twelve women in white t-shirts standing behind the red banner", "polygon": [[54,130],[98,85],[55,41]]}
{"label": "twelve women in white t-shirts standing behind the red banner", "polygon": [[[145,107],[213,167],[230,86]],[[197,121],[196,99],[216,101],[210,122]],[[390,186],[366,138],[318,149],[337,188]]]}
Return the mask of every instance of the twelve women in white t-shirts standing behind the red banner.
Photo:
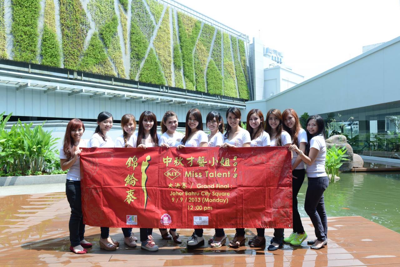
{"label": "twelve women in white t-shirts standing behind the red banner", "polygon": [[[115,142],[107,136],[112,128],[113,117],[109,112],[101,112],[97,118],[97,128],[88,143],[82,139],[85,127],[81,120],[72,119],[66,128],[63,146],[60,148],[60,163],[63,170],[68,169],[66,180],[66,195],[71,207],[69,221],[70,250],[77,254],[87,252],[85,248],[92,244],[84,239],[85,225],[82,220],[80,166],[79,155],[82,147],[267,147],[288,146],[292,151],[293,177],[293,232],[284,238],[284,229],[274,229],[274,237],[270,240],[268,250],[274,251],[283,243],[301,245],[307,238],[300,214],[298,212],[297,194],[307,172],[308,187],[304,209],[315,228],[316,239],[308,241],[311,249],[320,249],[327,243],[327,216],[324,206],[324,191],[328,187],[328,177],[325,173],[326,145],[324,136],[324,121],[318,115],[310,116],[306,130],[300,126],[296,112],[288,108],[283,113],[278,109],[268,110],[265,120],[259,109],[252,109],[247,114],[246,129],[241,127],[241,112],[238,108],[228,108],[226,111],[227,124],[217,111],[211,111],[206,117],[206,126],[210,134],[203,131],[200,110],[192,108],[186,115],[186,131],[176,131],[178,116],[173,111],[167,111],[161,120],[160,135],[157,132],[156,115],[144,111],[139,118],[138,131],[136,119],[132,114],[121,118],[122,135]],[[225,132],[224,132],[225,128]],[[307,165],[305,170],[304,163]],[[261,216],[261,215],[260,215]],[[141,248],[157,251],[158,246],[152,237],[152,228],[140,228]],[[176,229],[159,229],[162,239],[182,243]],[[257,235],[249,241],[250,247],[262,247],[266,244],[265,229],[257,228]],[[100,248],[115,250],[119,242],[109,235],[108,227],[100,227]],[[136,247],[138,238],[132,233],[132,228],[122,228],[124,243],[128,247]],[[245,229],[236,228],[234,238],[229,247],[238,248],[245,244]],[[215,229],[215,234],[208,240],[211,247],[218,248],[226,243],[224,229]],[[187,246],[194,248],[204,245],[203,229],[194,229],[188,238]]]}

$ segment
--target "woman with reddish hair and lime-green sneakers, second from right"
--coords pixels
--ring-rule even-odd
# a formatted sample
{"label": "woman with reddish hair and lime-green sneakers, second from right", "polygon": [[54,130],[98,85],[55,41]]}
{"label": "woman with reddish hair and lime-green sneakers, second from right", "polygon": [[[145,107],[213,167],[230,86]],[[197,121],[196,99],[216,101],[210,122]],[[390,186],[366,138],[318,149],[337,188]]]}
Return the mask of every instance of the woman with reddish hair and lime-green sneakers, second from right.
{"label": "woman with reddish hair and lime-green sneakers, second from right", "polygon": [[[297,145],[297,147],[304,153],[308,141],[307,133],[303,128],[301,128],[296,111],[292,108],[287,108],[282,113],[282,117],[283,128],[290,134],[292,144]],[[307,238],[307,233],[304,231],[300,213],[297,208],[297,194],[304,182],[304,176],[306,173],[302,159],[298,157],[296,152],[292,153],[292,155],[293,232],[289,237],[284,238],[283,241],[294,246],[299,246]]]}

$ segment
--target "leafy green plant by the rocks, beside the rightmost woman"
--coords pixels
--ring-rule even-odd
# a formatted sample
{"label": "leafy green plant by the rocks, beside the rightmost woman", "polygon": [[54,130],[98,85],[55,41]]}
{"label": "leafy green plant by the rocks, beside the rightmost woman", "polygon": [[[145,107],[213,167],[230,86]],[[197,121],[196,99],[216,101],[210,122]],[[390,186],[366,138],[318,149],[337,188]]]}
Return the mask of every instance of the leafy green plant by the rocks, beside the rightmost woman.
{"label": "leafy green plant by the rocks, beside the rightmost woman", "polygon": [[344,161],[349,161],[346,147],[337,148],[332,146],[326,149],[325,171],[330,182],[335,182],[335,176],[339,175],[339,168],[343,165]]}

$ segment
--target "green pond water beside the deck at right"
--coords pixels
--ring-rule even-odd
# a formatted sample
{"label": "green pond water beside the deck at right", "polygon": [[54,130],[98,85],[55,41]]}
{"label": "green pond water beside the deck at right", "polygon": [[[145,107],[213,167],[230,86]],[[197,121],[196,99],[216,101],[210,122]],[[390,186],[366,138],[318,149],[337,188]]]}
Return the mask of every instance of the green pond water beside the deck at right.
{"label": "green pond water beside the deck at right", "polygon": [[[298,195],[301,217],[307,178]],[[340,181],[329,183],[325,193],[328,217],[362,216],[400,233],[400,172],[340,173]]]}

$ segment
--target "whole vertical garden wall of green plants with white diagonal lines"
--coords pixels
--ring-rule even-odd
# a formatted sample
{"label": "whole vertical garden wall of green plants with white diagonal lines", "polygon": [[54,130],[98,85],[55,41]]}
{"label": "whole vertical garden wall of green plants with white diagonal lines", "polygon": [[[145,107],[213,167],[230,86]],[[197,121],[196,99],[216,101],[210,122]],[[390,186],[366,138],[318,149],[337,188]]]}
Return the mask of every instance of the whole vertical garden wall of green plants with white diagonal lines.
{"label": "whole vertical garden wall of green plants with white diagonal lines", "polygon": [[244,40],[163,0],[10,1],[0,58],[249,98]]}

